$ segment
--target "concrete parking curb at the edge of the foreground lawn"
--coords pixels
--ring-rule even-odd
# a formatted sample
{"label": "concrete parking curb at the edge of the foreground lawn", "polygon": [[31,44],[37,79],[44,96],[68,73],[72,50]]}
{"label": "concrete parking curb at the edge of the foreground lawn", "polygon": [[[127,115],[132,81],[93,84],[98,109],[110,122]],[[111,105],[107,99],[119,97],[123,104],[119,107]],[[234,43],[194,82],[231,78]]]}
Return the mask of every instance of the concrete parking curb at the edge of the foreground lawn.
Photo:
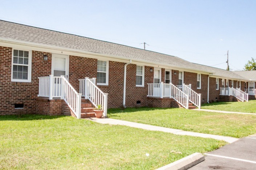
{"label": "concrete parking curb at the edge of the foreground lawn", "polygon": [[204,161],[202,153],[193,153],[187,157],[184,157],[178,161],[172,162],[168,165],[162,166],[157,170],[186,170],[195,166],[196,164]]}

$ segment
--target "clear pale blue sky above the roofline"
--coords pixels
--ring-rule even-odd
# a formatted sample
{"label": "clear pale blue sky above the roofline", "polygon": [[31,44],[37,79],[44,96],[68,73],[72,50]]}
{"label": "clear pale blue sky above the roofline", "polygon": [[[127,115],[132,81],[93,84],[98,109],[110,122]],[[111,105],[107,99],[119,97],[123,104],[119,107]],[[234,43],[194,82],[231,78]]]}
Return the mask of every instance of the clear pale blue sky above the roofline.
{"label": "clear pale blue sky above the roofline", "polygon": [[[256,58],[256,0],[0,0],[0,19],[233,70]],[[223,63],[223,64],[220,64]],[[218,64],[218,65],[216,65]]]}

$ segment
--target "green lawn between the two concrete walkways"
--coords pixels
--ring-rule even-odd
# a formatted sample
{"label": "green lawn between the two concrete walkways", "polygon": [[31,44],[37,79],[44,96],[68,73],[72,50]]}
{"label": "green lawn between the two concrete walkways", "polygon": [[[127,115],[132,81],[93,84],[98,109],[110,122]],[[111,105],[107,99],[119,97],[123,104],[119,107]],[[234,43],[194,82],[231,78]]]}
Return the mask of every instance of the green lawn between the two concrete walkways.
{"label": "green lawn between the two concrete walkways", "polygon": [[108,116],[113,119],[238,138],[256,133],[256,115],[142,107],[109,109]]}

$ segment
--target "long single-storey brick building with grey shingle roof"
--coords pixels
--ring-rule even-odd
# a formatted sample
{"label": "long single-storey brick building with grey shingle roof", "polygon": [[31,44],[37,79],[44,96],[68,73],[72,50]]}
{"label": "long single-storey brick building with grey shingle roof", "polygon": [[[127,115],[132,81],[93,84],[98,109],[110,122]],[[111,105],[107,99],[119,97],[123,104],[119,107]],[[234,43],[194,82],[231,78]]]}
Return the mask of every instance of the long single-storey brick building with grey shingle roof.
{"label": "long single-storey brick building with grey shingle roof", "polygon": [[[253,93],[256,80],[250,80],[251,72],[225,71],[175,56],[6,21],[0,21],[0,68],[0,114],[15,114],[20,111],[17,108],[29,114],[69,114],[65,111],[71,106],[58,96],[62,92],[56,90],[54,99],[38,97],[38,77],[49,75],[64,75],[77,92],[80,79],[97,78],[97,87],[108,93],[108,108],[123,104],[178,107],[176,99],[169,97],[173,93],[168,91],[169,82],[174,86],[191,84],[191,89],[201,94],[201,103],[227,101],[231,99],[220,97],[224,88],[238,87]],[[54,86],[58,81],[62,79],[54,79]],[[167,84],[162,91],[160,82]],[[148,84],[153,83],[159,86],[150,89]],[[48,86],[40,90],[50,93]],[[155,96],[147,97],[150,90]],[[157,91],[168,97],[160,98]]]}

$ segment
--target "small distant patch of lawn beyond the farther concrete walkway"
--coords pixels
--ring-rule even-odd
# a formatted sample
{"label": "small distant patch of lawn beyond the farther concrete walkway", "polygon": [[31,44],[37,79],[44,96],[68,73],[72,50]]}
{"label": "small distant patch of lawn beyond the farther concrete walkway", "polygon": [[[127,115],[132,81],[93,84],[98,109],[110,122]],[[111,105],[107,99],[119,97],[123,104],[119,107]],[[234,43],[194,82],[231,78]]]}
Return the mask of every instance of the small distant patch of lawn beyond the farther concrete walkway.
{"label": "small distant patch of lawn beyond the farther concrete walkway", "polygon": [[202,109],[256,113],[256,100],[249,102],[214,102],[203,104]]}

